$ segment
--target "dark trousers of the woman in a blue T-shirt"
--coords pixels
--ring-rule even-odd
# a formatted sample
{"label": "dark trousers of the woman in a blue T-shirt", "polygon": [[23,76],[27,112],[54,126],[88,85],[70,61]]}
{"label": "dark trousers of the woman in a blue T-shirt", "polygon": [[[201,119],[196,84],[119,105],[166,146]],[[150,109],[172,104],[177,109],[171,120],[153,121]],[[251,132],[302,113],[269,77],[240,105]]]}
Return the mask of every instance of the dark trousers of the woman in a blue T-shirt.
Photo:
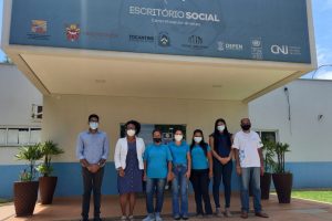
{"label": "dark trousers of the woman in a blue T-shirt", "polygon": [[209,196],[209,170],[208,169],[193,169],[190,181],[195,192],[196,213],[204,214],[201,199],[204,200],[205,214],[212,214],[212,208]]}

